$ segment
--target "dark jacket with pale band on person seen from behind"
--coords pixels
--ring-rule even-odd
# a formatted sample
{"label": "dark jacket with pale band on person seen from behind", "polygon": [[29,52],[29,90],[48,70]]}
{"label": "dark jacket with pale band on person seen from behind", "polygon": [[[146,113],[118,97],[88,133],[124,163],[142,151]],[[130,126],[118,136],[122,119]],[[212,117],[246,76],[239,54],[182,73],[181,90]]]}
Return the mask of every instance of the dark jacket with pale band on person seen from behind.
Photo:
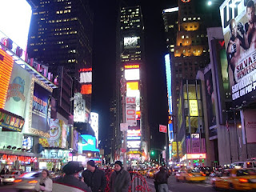
{"label": "dark jacket with pale band on person seen from behind", "polygon": [[[64,190],[66,189],[66,190]],[[53,192],[91,192],[90,187],[86,183],[81,182],[73,175],[65,175],[63,178],[58,178],[54,182]]]}

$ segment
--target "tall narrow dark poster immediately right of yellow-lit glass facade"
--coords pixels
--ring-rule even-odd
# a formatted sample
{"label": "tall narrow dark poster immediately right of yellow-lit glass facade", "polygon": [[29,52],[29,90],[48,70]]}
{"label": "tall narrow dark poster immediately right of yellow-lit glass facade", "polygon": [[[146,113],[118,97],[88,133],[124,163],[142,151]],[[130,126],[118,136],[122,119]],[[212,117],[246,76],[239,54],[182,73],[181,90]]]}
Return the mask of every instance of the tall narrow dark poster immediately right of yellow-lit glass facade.
{"label": "tall narrow dark poster immediately right of yellow-lit glass facade", "polygon": [[214,100],[214,86],[211,70],[208,70],[205,74],[205,86],[206,86],[206,109],[208,118],[209,137],[214,138],[217,136],[216,127],[216,112],[215,112],[215,100]]}

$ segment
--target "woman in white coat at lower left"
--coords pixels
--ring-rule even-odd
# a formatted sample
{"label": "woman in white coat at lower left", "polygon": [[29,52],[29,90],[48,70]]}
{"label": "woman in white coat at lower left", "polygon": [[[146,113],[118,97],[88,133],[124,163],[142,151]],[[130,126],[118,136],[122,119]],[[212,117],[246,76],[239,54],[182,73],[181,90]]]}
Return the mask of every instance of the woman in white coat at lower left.
{"label": "woman in white coat at lower left", "polygon": [[53,181],[49,178],[49,171],[42,170],[42,175],[35,186],[36,191],[51,192],[53,190]]}

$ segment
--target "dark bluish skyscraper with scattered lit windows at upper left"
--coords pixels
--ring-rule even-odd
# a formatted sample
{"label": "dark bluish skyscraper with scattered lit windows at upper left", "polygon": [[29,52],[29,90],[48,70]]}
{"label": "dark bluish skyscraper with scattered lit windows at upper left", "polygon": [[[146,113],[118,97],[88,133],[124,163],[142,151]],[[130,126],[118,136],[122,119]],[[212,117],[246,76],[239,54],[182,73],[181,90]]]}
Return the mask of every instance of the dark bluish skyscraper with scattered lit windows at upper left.
{"label": "dark bluish skyscraper with scattered lit windows at upper left", "polygon": [[72,78],[92,67],[93,14],[88,1],[30,0],[34,6],[27,52],[54,75],[64,66]]}

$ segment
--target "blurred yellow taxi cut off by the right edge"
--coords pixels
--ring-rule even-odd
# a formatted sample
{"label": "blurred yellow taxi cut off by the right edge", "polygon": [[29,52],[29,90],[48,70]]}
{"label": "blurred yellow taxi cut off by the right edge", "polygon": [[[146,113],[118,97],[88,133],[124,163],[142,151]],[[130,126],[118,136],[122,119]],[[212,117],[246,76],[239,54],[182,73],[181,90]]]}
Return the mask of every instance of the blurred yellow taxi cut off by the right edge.
{"label": "blurred yellow taxi cut off by the right edge", "polygon": [[225,170],[221,177],[214,178],[212,186],[215,190],[256,190],[256,170]]}

